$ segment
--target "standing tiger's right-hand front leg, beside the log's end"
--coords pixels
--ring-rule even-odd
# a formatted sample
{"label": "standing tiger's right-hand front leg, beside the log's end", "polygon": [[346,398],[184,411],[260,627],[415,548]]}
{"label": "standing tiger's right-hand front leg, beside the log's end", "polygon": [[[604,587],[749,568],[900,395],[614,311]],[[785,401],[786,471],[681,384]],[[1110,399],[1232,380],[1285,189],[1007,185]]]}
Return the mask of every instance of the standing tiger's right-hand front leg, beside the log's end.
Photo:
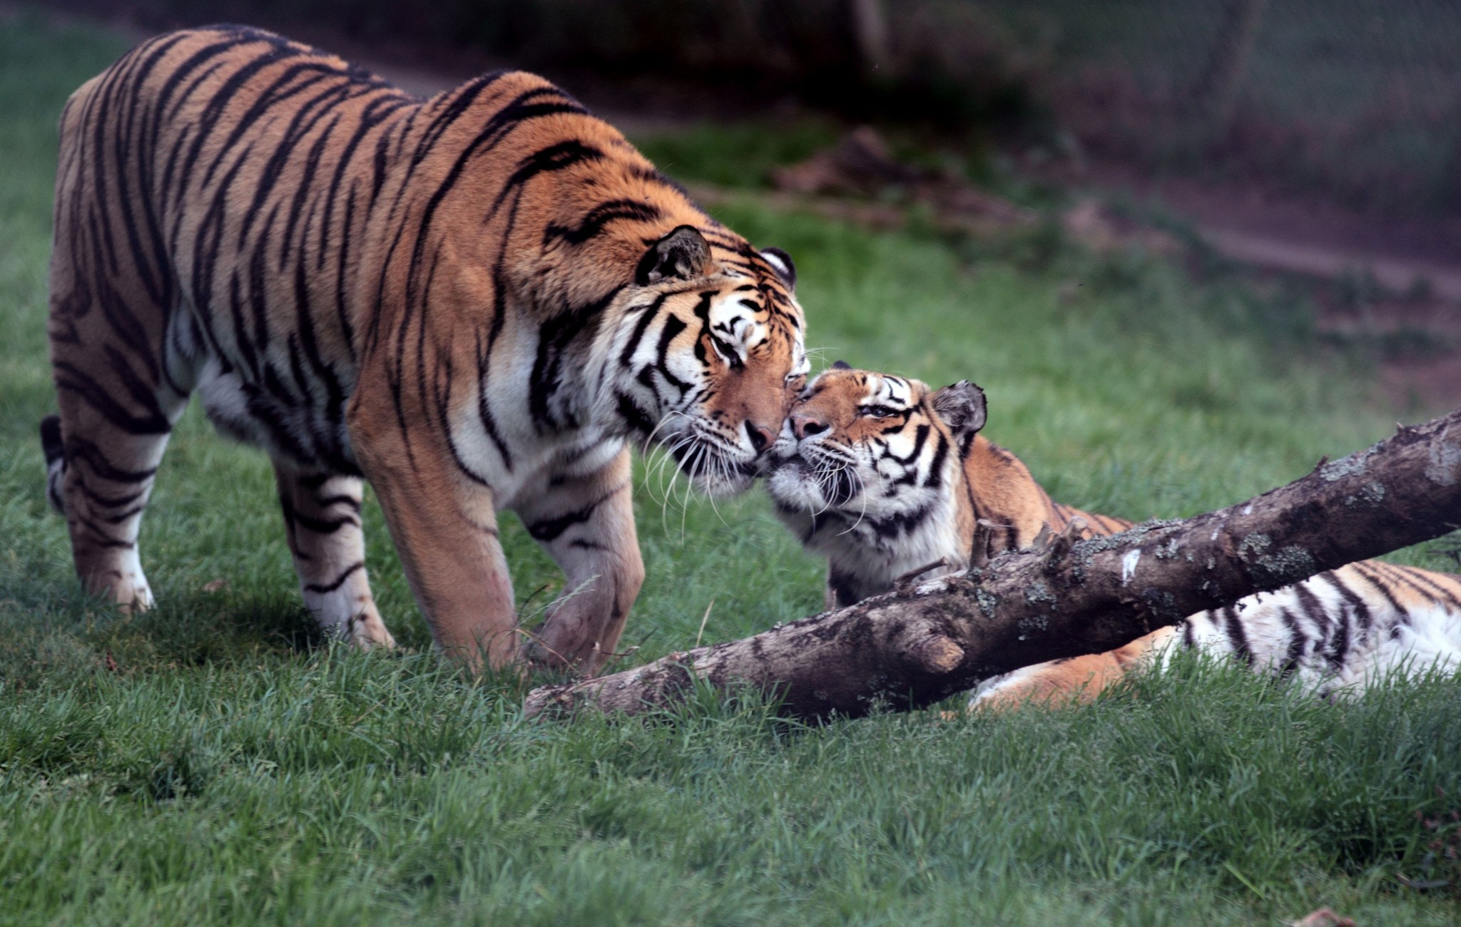
{"label": "standing tiger's right-hand front leg, beside the log's end", "polygon": [[564,572],[562,593],[523,645],[535,663],[596,673],[618,647],[644,582],[634,531],[630,453],[557,486],[519,514]]}

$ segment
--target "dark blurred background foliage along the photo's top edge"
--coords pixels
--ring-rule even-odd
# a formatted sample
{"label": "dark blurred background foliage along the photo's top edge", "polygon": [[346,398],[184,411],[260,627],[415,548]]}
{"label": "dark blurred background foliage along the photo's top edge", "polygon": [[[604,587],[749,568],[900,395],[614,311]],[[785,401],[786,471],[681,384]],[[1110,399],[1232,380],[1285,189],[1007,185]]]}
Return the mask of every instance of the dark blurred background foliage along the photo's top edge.
{"label": "dark blurred background foliage along the photo's top edge", "polygon": [[1001,140],[1036,159],[1135,162],[1340,196],[1376,212],[1461,209],[1461,4],[1258,4],[1223,104],[1202,92],[1243,0],[53,0],[148,28],[235,20],[491,58],[568,86],[638,82],[641,105],[809,105]]}

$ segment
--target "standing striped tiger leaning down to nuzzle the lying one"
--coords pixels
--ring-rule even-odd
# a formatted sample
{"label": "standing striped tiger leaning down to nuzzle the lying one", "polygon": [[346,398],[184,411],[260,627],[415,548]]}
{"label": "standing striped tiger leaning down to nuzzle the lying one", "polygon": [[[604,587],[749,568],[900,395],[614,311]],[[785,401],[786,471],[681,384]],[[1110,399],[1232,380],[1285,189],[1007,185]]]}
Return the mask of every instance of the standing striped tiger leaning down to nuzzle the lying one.
{"label": "standing striped tiger leaning down to nuzzle the lying one", "polygon": [[48,495],[86,588],[148,607],[139,523],[197,391],[272,457],[324,629],[392,644],[364,477],[438,648],[519,654],[508,508],[565,574],[527,655],[593,670],[644,575],[628,444],[748,488],[806,371],[793,282],[533,74],[418,99],[269,32],[161,35],[61,115]]}

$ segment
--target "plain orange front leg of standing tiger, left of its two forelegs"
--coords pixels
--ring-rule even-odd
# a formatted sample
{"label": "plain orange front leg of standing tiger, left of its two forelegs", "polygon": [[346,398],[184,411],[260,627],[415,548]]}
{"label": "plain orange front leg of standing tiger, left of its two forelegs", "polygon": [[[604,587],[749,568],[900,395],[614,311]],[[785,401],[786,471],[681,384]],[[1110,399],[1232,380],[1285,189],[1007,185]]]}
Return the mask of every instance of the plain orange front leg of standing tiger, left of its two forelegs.
{"label": "plain orange front leg of standing tiger, left of its two forelegs", "polygon": [[491,488],[462,472],[440,435],[424,426],[408,442],[389,406],[359,400],[351,442],[437,650],[470,670],[511,663],[517,618]]}

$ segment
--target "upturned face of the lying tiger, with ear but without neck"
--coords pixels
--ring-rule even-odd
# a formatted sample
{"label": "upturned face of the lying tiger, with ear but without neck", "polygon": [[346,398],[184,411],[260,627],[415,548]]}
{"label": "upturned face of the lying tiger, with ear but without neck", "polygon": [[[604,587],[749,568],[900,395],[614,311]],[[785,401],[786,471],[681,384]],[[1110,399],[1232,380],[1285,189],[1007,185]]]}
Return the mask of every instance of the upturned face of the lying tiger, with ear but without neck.
{"label": "upturned face of the lying tiger, with ear but without neck", "polygon": [[783,514],[910,528],[947,501],[947,464],[983,420],[983,394],[969,382],[934,391],[839,361],[795,400],[767,453],[766,486]]}

